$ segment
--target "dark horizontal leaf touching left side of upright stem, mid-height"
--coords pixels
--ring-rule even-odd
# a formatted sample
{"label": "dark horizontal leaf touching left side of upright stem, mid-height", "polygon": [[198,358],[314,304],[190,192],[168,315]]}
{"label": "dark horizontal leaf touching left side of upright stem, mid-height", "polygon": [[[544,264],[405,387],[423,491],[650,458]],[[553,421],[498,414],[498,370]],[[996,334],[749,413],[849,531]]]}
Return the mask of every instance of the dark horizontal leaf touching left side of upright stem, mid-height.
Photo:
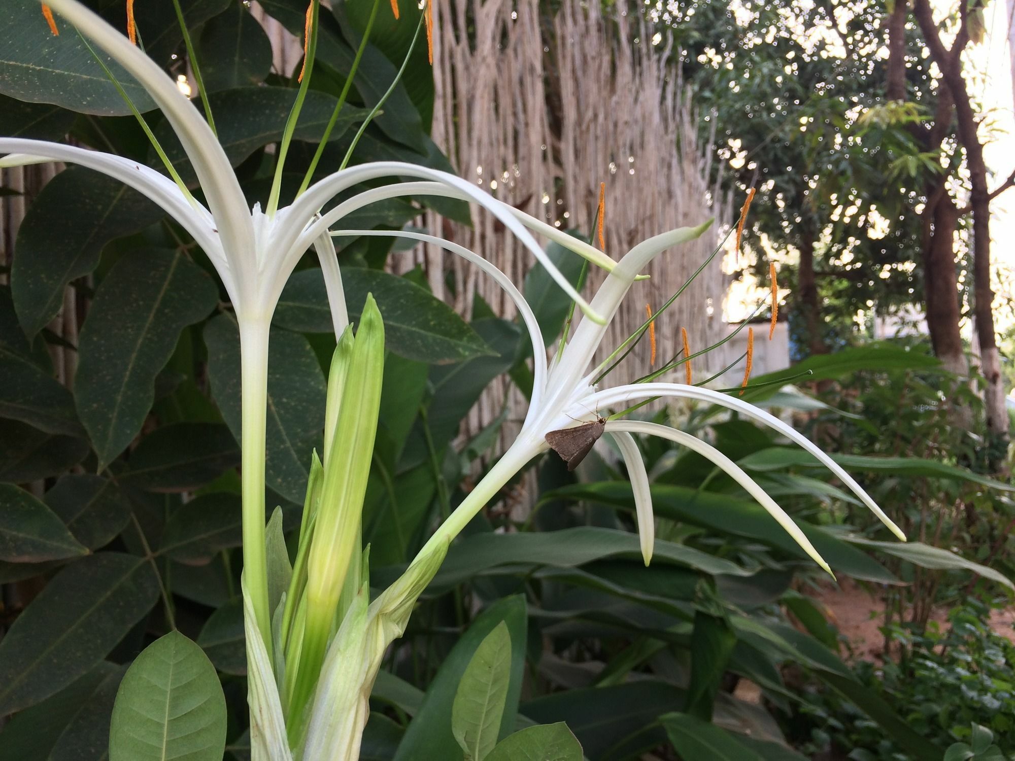
{"label": "dark horizontal leaf touching left side of upright stem, mid-height", "polygon": [[240,446],[222,423],[171,423],[141,439],[121,480],[146,491],[192,491],[240,465]]}

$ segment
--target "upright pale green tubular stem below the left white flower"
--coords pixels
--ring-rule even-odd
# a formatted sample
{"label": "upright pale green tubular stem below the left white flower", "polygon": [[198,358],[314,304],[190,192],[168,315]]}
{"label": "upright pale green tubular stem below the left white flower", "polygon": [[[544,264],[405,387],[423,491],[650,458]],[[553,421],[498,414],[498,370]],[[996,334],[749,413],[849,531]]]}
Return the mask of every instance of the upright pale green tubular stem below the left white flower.
{"label": "upright pale green tubular stem below the left white flower", "polygon": [[268,401],[267,321],[240,321],[244,573],[257,627],[271,659],[268,559],[264,539],[264,460]]}

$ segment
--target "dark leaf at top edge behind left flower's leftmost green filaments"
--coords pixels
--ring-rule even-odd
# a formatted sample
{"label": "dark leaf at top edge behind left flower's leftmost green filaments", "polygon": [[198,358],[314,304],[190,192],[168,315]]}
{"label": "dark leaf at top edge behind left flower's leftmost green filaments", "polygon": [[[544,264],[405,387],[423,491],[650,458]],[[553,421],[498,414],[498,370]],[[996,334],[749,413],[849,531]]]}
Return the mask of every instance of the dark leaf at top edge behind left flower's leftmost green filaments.
{"label": "dark leaf at top edge behind left flower's leftmost green filaments", "polygon": [[208,21],[198,47],[208,92],[258,84],[271,71],[271,42],[243,3]]}

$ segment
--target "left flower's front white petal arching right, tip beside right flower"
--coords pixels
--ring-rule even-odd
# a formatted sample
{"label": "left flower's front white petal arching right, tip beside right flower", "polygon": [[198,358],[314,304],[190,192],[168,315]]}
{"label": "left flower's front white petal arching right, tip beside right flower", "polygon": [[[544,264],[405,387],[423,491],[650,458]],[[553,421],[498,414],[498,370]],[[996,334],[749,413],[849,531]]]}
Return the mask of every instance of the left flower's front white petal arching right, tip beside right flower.
{"label": "left flower's front white petal arching right, tip beside right flower", "polygon": [[[325,203],[334,196],[338,195],[342,191],[351,188],[358,183],[366,182],[369,180],[378,180],[385,177],[417,177],[427,180],[436,181],[438,183],[444,183],[452,188],[457,188],[458,190],[465,193],[470,200],[473,202],[484,206],[490,213],[492,213],[497,219],[499,219],[507,229],[510,229],[522,244],[532,252],[533,256],[542,264],[546,271],[550,273],[557,285],[568,295],[570,298],[582,308],[586,317],[590,321],[604,323],[603,318],[597,314],[590,305],[589,302],[582,297],[573,286],[567,282],[567,278],[558,270],[553,263],[550,261],[549,257],[546,256],[546,252],[542,250],[536,239],[532,236],[532,233],[525,228],[525,226],[515,218],[515,215],[505,211],[502,205],[495,200],[490,203],[491,197],[484,193],[483,191],[476,188],[471,183],[467,183],[461,178],[450,175],[447,171],[439,171],[437,169],[431,169],[426,166],[418,166],[416,164],[405,163],[403,161],[376,161],[373,163],[360,164],[358,166],[351,166],[347,169],[342,169],[341,171],[336,171],[334,175],[320,180],[319,182],[308,188],[307,192],[303,193],[299,198],[297,198],[292,206],[289,208],[292,210],[295,216],[306,215],[307,218],[311,218],[318,210],[324,206]],[[369,193],[369,191],[366,191]],[[352,201],[354,199],[350,199]],[[349,203],[349,202],[346,202]],[[291,240],[284,239],[281,241],[284,244],[283,251],[288,251],[290,246],[296,243],[298,236],[304,238],[315,238],[317,235],[321,234],[332,222],[335,221],[334,218],[329,220],[334,212],[329,212],[329,214],[323,215],[322,219],[316,221],[308,226],[308,228],[302,232],[292,236]],[[347,211],[342,213],[348,213]],[[326,220],[329,220],[326,222]]]}

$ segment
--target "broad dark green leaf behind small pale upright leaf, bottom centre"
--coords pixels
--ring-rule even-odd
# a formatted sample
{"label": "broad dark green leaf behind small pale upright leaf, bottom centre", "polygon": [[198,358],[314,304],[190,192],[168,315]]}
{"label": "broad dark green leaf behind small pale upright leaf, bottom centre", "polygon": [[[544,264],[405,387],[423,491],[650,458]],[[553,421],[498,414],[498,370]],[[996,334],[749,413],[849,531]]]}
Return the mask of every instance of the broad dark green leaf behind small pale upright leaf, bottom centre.
{"label": "broad dark green leaf behind small pale upright leaf, bottom centre", "polygon": [[501,622],[506,624],[511,635],[512,656],[511,687],[504,699],[498,734],[502,735],[515,725],[525,666],[527,618],[525,600],[521,597],[499,600],[476,617],[455,643],[430,682],[423,704],[409,723],[394,761],[414,761],[419,758],[439,758],[442,761],[463,759],[462,749],[452,733],[455,695],[480,643]]}

